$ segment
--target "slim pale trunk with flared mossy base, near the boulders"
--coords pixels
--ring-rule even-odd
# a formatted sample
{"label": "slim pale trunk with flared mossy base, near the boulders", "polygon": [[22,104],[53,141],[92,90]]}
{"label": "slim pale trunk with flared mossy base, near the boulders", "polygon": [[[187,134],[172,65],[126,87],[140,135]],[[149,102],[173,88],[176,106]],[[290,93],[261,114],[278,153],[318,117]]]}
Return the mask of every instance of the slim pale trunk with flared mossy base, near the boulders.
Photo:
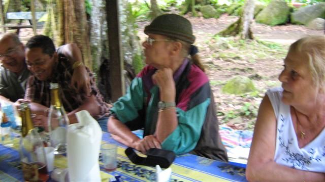
{"label": "slim pale trunk with flared mossy base, near the boulders", "polygon": [[217,33],[220,36],[239,36],[241,39],[254,39],[253,33],[250,29],[251,21],[254,17],[254,1],[245,1],[244,11],[239,19],[231,24],[226,29]]}

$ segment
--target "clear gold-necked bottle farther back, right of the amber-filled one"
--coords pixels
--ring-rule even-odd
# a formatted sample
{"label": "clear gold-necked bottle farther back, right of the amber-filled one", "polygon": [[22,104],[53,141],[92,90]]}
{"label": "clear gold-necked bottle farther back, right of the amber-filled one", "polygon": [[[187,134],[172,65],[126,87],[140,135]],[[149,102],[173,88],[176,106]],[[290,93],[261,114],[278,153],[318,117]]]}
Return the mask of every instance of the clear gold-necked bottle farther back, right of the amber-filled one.
{"label": "clear gold-necked bottle farther back, right of the amber-filled one", "polygon": [[69,118],[59,98],[58,83],[50,83],[51,107],[48,115],[48,130],[54,154],[64,154],[67,150],[67,130]]}

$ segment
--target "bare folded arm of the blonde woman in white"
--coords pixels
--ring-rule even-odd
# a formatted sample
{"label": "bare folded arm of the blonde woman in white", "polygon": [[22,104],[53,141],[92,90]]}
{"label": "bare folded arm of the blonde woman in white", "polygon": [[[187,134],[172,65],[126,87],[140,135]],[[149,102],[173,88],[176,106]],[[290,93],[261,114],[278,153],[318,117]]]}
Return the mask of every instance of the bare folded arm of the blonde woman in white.
{"label": "bare folded arm of the blonde woman in white", "polygon": [[246,168],[249,181],[324,181],[325,173],[293,169],[274,161],[276,117],[266,95],[259,106]]}

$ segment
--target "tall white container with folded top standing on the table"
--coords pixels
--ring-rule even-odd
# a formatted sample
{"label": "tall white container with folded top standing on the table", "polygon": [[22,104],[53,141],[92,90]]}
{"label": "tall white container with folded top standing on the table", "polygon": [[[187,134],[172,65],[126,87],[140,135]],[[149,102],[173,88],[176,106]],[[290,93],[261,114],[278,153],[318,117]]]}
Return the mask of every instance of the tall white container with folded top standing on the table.
{"label": "tall white container with folded top standing on the table", "polygon": [[99,154],[102,129],[89,112],[76,113],[79,123],[68,127],[68,170],[70,181],[101,181]]}

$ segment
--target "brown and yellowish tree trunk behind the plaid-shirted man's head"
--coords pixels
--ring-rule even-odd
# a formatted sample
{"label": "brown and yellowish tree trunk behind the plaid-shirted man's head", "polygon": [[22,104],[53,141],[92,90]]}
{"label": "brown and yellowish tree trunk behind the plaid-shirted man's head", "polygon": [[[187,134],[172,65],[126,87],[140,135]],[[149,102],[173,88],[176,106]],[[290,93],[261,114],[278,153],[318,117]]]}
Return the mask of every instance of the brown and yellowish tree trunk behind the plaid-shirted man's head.
{"label": "brown and yellowish tree trunk behind the plaid-shirted man's head", "polygon": [[52,38],[57,46],[76,43],[81,50],[84,64],[92,70],[85,4],[79,0],[56,0],[55,3],[52,1],[49,3],[52,7],[48,9],[49,18],[45,26],[52,27],[53,31],[47,30],[45,33],[51,35],[52,32]]}

